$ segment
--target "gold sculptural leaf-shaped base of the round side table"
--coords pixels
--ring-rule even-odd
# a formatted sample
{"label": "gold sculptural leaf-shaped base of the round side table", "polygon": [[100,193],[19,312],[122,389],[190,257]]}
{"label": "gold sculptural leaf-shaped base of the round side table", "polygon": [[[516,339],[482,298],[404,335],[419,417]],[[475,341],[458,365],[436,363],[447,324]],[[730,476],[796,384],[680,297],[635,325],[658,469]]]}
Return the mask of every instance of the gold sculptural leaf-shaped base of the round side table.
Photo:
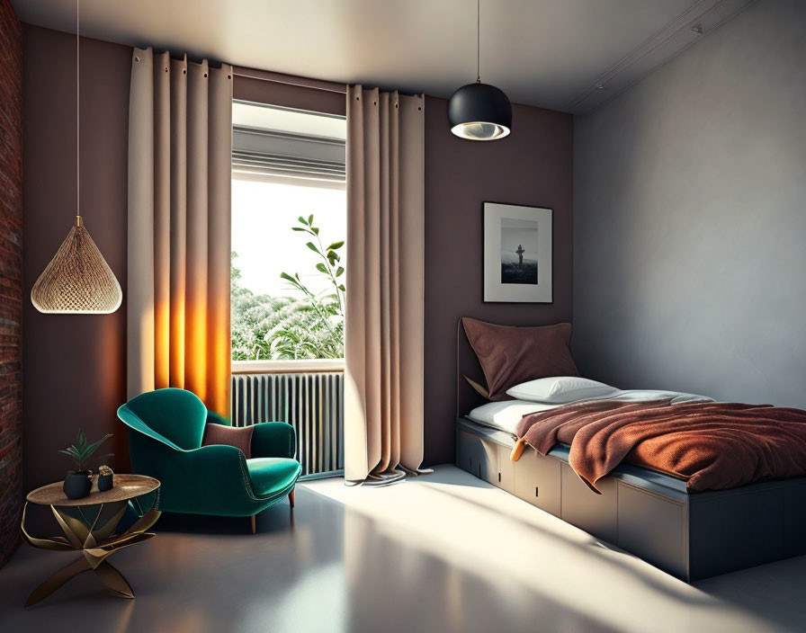
{"label": "gold sculptural leaf-shaped base of the round side table", "polygon": [[[156,480],[152,481],[156,482]],[[42,488],[39,490],[42,490]],[[38,491],[34,491],[34,493],[36,492]],[[34,493],[31,493],[31,495],[34,495]],[[29,495],[29,501],[37,503],[37,499],[31,498],[31,495]],[[106,494],[104,493],[103,495]],[[112,498],[105,503],[101,501],[99,495],[95,504],[92,503],[94,500],[90,500],[85,505],[76,503],[69,506],[49,504],[53,516],[56,517],[59,527],[64,532],[64,537],[57,536],[50,539],[32,537],[25,530],[25,514],[28,511],[28,502],[25,503],[25,507],[22,510],[21,530],[22,539],[26,543],[34,548],[49,549],[50,551],[80,551],[82,555],[66,567],[59,569],[58,572],[51,575],[48,580],[34,589],[31,595],[28,596],[28,600],[25,601],[26,607],[40,602],[60,586],[67,583],[68,580],[86,571],[93,571],[112,595],[119,598],[134,598],[134,592],[131,590],[126,578],[106,559],[119,549],[128,548],[131,545],[153,538],[155,534],[146,530],[157,522],[160,512],[155,508],[151,508],[148,513],[145,513],[137,522],[134,522],[128,530],[123,531],[121,534],[114,534],[118,523],[121,522],[124,513],[126,513],[129,501],[128,499],[114,498],[112,495],[107,496]],[[97,505],[98,509],[97,512],[93,509],[92,516],[87,517],[85,509],[88,509],[90,504],[92,506]]]}

